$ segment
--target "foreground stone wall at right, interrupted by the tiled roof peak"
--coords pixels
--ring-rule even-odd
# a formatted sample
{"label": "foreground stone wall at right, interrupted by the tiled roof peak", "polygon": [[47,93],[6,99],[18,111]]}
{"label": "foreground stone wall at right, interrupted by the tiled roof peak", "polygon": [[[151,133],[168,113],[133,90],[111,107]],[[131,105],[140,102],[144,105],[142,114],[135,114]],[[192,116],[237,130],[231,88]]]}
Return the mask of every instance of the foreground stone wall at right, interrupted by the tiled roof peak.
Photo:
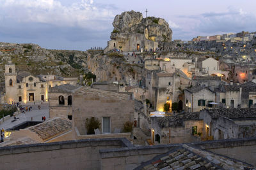
{"label": "foreground stone wall at right, interrupted by the tiled roof peak", "polygon": [[[172,148],[182,145],[183,144],[180,143],[173,145],[138,146],[134,148],[100,150],[102,169],[134,169],[140,166],[142,162],[147,162],[156,155],[166,153]],[[187,145],[199,147],[207,151],[209,150],[210,152],[255,165],[256,138],[205,141],[200,143],[187,143]],[[252,149],[251,151],[248,150],[250,148]]]}

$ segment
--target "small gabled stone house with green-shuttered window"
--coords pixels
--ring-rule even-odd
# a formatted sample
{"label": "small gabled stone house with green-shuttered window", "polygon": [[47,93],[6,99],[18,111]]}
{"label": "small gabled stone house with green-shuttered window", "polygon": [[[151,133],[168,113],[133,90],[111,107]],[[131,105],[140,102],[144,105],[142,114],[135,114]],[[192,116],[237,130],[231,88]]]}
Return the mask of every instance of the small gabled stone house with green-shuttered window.
{"label": "small gabled stone house with green-shuttered window", "polygon": [[185,94],[185,111],[195,112],[204,108],[214,107],[211,103],[216,103],[216,92],[208,87],[195,86],[184,90]]}

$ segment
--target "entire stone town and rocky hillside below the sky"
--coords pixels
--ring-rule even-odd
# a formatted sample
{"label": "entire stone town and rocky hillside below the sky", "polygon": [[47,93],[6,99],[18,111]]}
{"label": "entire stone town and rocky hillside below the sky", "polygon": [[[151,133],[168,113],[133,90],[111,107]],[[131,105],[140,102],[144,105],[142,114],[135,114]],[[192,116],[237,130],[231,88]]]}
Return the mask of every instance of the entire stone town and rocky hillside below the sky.
{"label": "entire stone town and rocky hillside below the sky", "polygon": [[256,169],[256,32],[173,34],[124,11],[106,48],[0,43],[1,169]]}

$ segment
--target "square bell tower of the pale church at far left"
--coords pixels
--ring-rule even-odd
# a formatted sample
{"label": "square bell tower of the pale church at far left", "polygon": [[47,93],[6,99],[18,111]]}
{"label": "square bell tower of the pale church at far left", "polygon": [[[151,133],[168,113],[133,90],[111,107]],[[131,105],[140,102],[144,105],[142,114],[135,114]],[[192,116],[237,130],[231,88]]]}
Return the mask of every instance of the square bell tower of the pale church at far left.
{"label": "square bell tower of the pale church at far left", "polygon": [[12,64],[12,61],[8,61],[8,64],[5,65],[5,101],[6,103],[10,103],[10,101],[14,101],[14,99],[11,99],[10,96],[17,87],[15,87],[17,83],[17,73],[15,70],[15,64]]}

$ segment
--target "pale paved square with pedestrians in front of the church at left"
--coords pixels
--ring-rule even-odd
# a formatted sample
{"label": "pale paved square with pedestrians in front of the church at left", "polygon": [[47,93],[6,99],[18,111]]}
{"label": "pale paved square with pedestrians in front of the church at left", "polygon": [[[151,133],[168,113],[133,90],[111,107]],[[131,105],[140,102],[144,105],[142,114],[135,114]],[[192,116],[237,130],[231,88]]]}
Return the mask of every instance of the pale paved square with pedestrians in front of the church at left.
{"label": "pale paved square with pedestrians in front of the church at left", "polygon": [[32,111],[26,111],[25,114],[20,113],[19,115],[16,115],[17,120],[15,122],[12,122],[12,120],[14,120],[13,117],[11,117],[8,120],[5,120],[2,124],[0,124],[0,129],[11,128],[15,125],[21,124],[22,122],[31,120],[31,117],[33,118],[33,121],[42,121],[42,117],[45,117],[46,120],[49,118],[48,103],[40,104],[41,106],[40,110],[38,110],[38,104],[22,105],[22,106],[32,106]]}

